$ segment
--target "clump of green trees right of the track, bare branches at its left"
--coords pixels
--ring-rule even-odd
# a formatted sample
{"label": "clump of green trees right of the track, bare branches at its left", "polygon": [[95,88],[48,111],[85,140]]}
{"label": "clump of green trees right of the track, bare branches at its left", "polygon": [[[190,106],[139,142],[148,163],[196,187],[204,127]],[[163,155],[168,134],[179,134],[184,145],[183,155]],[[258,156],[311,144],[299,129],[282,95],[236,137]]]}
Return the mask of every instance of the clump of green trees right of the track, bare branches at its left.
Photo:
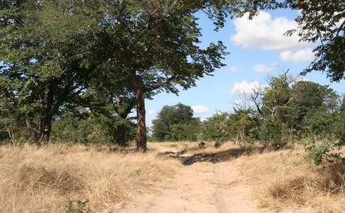
{"label": "clump of green trees right of the track, bare branches at its left", "polygon": [[[339,95],[328,86],[299,81],[288,72],[270,77],[268,87],[253,92],[258,136],[265,146],[281,148],[292,138],[339,137]],[[340,128],[341,129],[341,128]]]}

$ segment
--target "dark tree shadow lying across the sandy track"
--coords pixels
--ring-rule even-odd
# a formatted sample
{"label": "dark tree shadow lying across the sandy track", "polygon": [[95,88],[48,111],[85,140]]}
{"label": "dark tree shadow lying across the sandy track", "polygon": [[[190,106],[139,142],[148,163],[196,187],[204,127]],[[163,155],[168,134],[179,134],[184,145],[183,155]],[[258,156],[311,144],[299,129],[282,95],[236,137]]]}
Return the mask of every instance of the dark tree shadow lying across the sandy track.
{"label": "dark tree shadow lying across the sandy track", "polygon": [[263,153],[265,148],[229,148],[226,151],[216,153],[196,153],[194,155],[184,155],[182,152],[174,153],[171,151],[160,153],[170,158],[177,158],[182,165],[192,165],[198,162],[220,163],[227,160],[233,160],[241,155],[250,155],[252,153]]}

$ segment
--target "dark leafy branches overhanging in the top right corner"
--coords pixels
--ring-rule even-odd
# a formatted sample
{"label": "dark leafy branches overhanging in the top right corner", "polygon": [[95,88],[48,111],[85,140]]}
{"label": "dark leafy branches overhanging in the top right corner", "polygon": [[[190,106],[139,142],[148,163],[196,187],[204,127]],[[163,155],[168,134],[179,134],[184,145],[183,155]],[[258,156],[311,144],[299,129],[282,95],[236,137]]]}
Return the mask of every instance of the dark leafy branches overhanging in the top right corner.
{"label": "dark leafy branches overhanging in the top right corner", "polygon": [[[319,42],[314,48],[315,60],[304,73],[327,72],[334,82],[345,79],[345,2],[292,1],[292,9],[299,10],[297,33],[302,41]],[[291,35],[295,31],[289,31]]]}

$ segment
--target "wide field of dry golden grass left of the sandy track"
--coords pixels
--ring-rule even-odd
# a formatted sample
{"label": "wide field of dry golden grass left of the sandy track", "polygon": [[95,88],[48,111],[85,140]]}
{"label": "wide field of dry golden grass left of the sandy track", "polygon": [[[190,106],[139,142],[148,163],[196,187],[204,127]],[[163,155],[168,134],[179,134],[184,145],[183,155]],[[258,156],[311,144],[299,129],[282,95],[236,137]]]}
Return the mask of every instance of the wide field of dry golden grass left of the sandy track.
{"label": "wide field of dry golden grass left of the sandy track", "polygon": [[154,152],[1,146],[0,212],[64,212],[69,199],[88,199],[87,212],[109,212],[179,167]]}

